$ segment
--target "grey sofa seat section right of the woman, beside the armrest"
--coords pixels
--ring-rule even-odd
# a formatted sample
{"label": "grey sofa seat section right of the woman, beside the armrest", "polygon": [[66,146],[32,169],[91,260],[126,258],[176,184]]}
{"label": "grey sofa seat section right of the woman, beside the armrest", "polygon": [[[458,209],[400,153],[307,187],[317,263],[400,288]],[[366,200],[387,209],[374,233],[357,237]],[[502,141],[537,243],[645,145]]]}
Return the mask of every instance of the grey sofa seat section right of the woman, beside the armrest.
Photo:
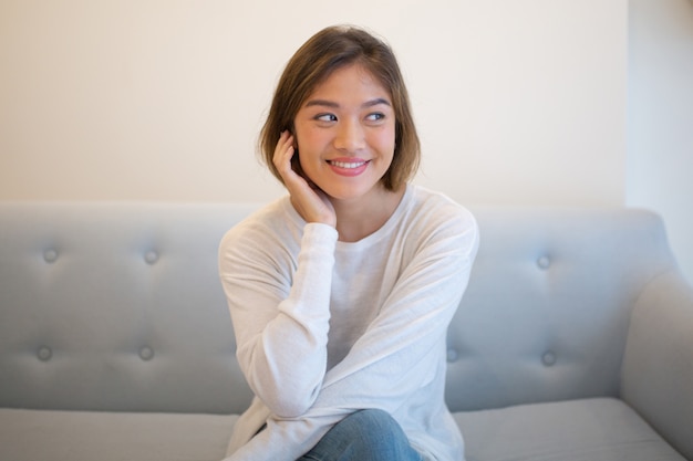
{"label": "grey sofa seat section right of the woman, beside the armrest", "polygon": [[466,461],[685,461],[635,411],[612,398],[454,416]]}

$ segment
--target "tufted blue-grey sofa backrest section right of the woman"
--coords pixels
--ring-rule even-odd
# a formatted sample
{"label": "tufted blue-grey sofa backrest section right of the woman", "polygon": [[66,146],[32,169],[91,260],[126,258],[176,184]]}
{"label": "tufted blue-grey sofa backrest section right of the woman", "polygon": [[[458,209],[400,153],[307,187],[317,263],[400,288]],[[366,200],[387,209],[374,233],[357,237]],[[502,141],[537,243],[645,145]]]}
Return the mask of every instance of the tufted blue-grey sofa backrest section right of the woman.
{"label": "tufted blue-grey sofa backrest section right of the woman", "polygon": [[634,302],[675,269],[634,209],[472,208],[480,245],[448,333],[453,410],[618,397]]}

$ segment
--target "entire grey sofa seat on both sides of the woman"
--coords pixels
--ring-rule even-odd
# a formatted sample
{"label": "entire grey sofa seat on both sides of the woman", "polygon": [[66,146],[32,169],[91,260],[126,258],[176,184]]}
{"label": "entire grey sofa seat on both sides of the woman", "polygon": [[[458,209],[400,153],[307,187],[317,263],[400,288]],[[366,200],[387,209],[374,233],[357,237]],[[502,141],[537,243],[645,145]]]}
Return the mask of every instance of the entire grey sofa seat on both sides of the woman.
{"label": "entire grey sofa seat on both sides of the woman", "polygon": [[[454,413],[466,461],[685,461],[613,398]],[[237,416],[0,409],[12,461],[219,461]],[[38,442],[40,441],[40,442]]]}

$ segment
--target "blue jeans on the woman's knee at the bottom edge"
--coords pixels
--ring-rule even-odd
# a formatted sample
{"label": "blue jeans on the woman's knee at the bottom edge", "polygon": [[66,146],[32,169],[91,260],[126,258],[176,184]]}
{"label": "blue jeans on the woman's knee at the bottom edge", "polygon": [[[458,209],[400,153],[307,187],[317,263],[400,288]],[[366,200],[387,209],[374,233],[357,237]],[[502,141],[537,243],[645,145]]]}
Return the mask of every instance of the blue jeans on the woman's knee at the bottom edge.
{"label": "blue jeans on the woman's knee at the bottom edge", "polygon": [[422,461],[387,412],[360,410],[338,422],[297,461]]}

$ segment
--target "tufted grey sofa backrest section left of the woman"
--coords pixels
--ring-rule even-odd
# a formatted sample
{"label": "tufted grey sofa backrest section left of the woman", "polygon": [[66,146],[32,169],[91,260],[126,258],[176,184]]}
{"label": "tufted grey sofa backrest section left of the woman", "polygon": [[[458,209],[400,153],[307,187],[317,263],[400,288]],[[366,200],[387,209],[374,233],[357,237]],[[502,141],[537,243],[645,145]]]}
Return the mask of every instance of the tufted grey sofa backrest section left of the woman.
{"label": "tufted grey sofa backrest section left of the woman", "polygon": [[1,205],[0,407],[229,412],[217,275],[241,205]]}

